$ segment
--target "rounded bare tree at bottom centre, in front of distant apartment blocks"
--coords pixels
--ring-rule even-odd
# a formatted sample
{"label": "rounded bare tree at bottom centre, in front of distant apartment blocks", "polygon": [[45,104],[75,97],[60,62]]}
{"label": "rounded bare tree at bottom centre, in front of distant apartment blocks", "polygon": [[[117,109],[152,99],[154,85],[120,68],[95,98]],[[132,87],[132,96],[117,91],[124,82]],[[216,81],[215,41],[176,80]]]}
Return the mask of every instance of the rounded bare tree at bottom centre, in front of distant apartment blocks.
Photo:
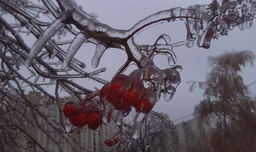
{"label": "rounded bare tree at bottom centre, in front of distant apartment blocks", "polygon": [[[128,139],[125,145],[118,144],[118,151],[171,151],[171,129],[173,124],[163,113],[147,115],[138,139]],[[123,132],[130,136],[131,127],[123,126]]]}

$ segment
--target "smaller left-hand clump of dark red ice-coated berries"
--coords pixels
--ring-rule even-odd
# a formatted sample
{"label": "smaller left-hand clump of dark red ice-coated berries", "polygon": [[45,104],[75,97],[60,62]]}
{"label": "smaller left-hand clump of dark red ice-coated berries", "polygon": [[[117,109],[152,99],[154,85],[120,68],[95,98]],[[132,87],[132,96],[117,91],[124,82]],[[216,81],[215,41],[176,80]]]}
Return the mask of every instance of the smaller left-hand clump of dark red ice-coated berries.
{"label": "smaller left-hand clump of dark red ice-coated berries", "polygon": [[88,124],[90,129],[98,130],[102,124],[101,112],[96,107],[82,107],[76,102],[69,101],[65,104],[63,112],[71,124],[77,128],[82,128]]}

